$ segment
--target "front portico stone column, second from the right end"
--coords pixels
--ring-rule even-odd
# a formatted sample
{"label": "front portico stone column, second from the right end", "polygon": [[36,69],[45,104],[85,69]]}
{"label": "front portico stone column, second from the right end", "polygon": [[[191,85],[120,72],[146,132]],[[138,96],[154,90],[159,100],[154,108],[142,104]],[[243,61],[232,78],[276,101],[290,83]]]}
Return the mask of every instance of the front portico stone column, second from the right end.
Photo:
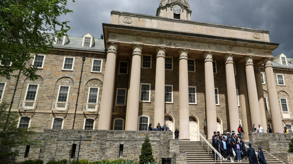
{"label": "front portico stone column, second from the right end", "polygon": [[248,100],[250,108],[250,117],[251,124],[256,126],[261,124],[260,112],[259,112],[259,101],[257,96],[255,76],[253,69],[253,59],[254,56],[244,57],[245,61],[245,71],[246,71],[246,82],[247,82],[247,91],[248,91]]}

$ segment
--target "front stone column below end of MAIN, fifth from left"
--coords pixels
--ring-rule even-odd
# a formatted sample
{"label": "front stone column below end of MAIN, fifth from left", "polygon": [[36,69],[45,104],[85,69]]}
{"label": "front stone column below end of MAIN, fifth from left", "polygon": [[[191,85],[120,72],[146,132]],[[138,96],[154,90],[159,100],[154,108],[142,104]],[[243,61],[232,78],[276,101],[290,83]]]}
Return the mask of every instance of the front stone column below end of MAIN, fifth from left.
{"label": "front stone column below end of MAIN, fifth from left", "polygon": [[213,53],[204,52],[203,55],[204,55],[204,80],[205,80],[205,100],[206,100],[208,140],[212,140],[212,136],[214,135],[213,132],[217,130],[217,111],[216,111],[216,100],[215,100]]}

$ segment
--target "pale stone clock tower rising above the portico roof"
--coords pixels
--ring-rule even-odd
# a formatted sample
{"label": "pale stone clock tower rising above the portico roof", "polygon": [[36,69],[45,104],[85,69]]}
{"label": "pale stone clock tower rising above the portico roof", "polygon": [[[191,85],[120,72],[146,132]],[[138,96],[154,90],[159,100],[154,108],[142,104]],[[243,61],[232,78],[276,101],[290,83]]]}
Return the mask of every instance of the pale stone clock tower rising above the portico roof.
{"label": "pale stone clock tower rising above the portico roof", "polygon": [[160,0],[156,16],[190,20],[191,10],[187,0]]}

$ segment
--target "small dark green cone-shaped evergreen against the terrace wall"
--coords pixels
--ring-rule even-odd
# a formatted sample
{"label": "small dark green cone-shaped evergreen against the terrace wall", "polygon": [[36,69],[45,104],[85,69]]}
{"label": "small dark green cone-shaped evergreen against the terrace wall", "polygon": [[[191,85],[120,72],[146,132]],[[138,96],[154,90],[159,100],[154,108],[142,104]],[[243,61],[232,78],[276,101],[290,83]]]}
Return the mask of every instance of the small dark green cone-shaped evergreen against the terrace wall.
{"label": "small dark green cone-shaped evergreen against the terrace wall", "polygon": [[143,141],[143,146],[141,147],[141,154],[139,155],[139,164],[152,163],[154,162],[154,155],[152,150],[152,145],[150,144],[150,139],[147,136]]}

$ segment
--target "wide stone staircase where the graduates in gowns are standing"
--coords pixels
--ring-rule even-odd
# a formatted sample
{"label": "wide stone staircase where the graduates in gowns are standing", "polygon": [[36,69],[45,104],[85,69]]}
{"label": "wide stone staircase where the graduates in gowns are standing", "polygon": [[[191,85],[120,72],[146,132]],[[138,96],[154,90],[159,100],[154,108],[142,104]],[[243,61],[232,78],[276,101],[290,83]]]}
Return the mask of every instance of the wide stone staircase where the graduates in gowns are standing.
{"label": "wide stone staircase where the graduates in gowns are standing", "polygon": [[[212,149],[209,149],[208,154],[208,144],[203,142],[203,147],[201,146],[201,141],[180,141],[179,142],[179,150],[185,151],[187,153],[187,164],[208,164],[208,163],[215,163],[215,159],[212,155]],[[257,152],[257,145],[252,144],[252,147]],[[280,161],[273,155],[269,154],[266,151],[263,151],[263,154],[265,155],[266,162],[268,164],[284,164],[284,162]],[[230,158],[227,158],[228,161],[223,161],[222,163],[228,164],[230,162]],[[216,163],[220,163],[220,160],[217,160]],[[235,160],[233,163],[244,163],[249,164],[249,161],[246,159],[245,161],[242,160],[242,162],[237,162]]]}

